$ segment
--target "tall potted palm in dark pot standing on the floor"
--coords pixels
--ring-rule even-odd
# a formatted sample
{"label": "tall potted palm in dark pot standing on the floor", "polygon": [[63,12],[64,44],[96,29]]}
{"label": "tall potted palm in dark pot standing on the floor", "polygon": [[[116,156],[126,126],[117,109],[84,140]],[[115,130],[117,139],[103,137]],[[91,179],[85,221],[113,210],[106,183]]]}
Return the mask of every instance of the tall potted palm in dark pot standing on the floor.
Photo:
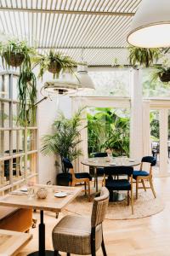
{"label": "tall potted palm in dark pot standing on the floor", "polygon": [[[67,119],[63,113],[59,113],[53,124],[54,133],[42,137],[42,154],[55,154],[59,156],[61,163],[64,157],[72,161],[82,154],[77,145],[81,143],[80,126],[83,109],[79,109],[71,119]],[[59,162],[57,165],[59,166]],[[66,172],[64,166],[62,166],[62,172],[57,175],[57,183],[68,185],[71,174]]]}

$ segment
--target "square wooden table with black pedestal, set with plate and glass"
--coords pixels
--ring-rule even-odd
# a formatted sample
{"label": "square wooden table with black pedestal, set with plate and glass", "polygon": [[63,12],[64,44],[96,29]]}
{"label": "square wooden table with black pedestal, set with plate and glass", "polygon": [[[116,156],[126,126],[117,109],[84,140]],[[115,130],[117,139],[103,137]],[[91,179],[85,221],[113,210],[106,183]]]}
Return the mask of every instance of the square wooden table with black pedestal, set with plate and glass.
{"label": "square wooden table with black pedestal, set with plate and glass", "polygon": [[[3,196],[0,199],[1,206],[8,207],[20,207],[28,209],[37,209],[40,210],[40,224],[39,224],[39,250],[35,253],[30,253],[30,256],[54,256],[53,251],[45,250],[45,224],[43,222],[43,211],[50,212],[61,212],[61,210],[66,207],[71,201],[73,201],[77,195],[80,194],[82,188],[75,187],[64,187],[64,186],[47,186],[47,185],[34,185],[35,191],[39,188],[48,189],[48,196],[46,199],[37,199],[37,196],[34,196],[31,199],[28,199],[27,195],[12,195],[8,194]],[[54,192],[65,191],[67,196],[63,198],[54,197]]]}

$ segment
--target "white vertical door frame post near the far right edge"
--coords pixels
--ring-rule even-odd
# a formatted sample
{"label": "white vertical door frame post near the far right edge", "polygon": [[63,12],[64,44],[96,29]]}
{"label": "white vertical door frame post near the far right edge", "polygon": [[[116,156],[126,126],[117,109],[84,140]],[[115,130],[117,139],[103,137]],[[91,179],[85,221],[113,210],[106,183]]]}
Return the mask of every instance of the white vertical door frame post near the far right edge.
{"label": "white vertical door frame post near the far right edge", "polygon": [[168,109],[160,110],[160,175],[167,175],[167,124]]}

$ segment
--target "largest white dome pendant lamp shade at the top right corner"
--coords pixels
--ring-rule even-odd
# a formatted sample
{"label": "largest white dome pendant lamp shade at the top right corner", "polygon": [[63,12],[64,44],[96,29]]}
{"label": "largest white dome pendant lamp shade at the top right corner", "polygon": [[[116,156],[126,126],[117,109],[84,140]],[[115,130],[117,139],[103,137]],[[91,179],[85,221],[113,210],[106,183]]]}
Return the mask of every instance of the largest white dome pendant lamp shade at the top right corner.
{"label": "largest white dome pendant lamp shade at the top right corner", "polygon": [[170,0],[142,0],[127,42],[142,48],[170,46]]}

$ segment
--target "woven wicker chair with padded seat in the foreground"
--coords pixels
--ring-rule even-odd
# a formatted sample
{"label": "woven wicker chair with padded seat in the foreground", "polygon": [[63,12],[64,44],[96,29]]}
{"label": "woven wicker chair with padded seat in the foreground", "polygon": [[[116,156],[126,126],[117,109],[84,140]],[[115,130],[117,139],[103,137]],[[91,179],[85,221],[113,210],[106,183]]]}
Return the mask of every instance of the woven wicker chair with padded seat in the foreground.
{"label": "woven wicker chair with padded seat in the foreground", "polygon": [[100,196],[94,198],[91,218],[71,215],[62,218],[52,233],[54,255],[57,256],[61,251],[67,253],[67,256],[70,256],[71,253],[95,256],[99,247],[102,247],[104,256],[107,256],[102,223],[105,219],[108,202],[109,191],[103,187]]}

